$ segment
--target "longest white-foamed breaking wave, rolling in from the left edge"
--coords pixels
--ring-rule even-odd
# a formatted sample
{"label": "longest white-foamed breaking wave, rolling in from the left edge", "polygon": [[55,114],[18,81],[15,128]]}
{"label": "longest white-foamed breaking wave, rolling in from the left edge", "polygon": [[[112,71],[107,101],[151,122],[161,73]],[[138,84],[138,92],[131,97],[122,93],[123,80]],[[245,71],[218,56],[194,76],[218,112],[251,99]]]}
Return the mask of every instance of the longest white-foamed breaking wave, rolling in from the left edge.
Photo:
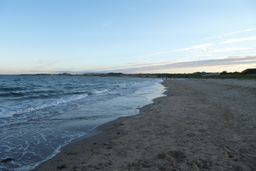
{"label": "longest white-foamed breaking wave, rolling in from the left edge", "polygon": [[[68,92],[64,94],[60,93],[60,94],[53,94],[53,95],[27,96],[25,97],[27,100],[23,100],[18,105],[16,103],[9,103],[8,105],[6,105],[6,107],[3,106],[2,110],[0,107],[0,118],[9,118],[4,122],[3,120],[0,121],[0,127],[6,126],[6,125],[18,124],[18,123],[26,123],[30,120],[50,117],[52,115],[77,109],[83,106],[84,105],[83,103],[85,103],[85,101],[84,102],[81,101],[82,103],[80,103],[79,100],[84,99],[89,95],[101,94],[108,91],[110,90],[102,89],[102,90],[94,90],[94,91],[87,91],[87,92],[75,91],[75,92]],[[56,97],[56,95],[62,96],[62,97],[55,98],[55,99],[52,98],[53,96]],[[49,97],[52,99],[50,99]],[[77,100],[78,100],[77,103],[72,102]],[[86,100],[86,103],[90,103],[90,101],[88,100]],[[66,104],[68,102],[72,102],[72,104]],[[58,105],[60,106],[58,107]],[[10,106],[13,106],[13,107],[10,107]]]}

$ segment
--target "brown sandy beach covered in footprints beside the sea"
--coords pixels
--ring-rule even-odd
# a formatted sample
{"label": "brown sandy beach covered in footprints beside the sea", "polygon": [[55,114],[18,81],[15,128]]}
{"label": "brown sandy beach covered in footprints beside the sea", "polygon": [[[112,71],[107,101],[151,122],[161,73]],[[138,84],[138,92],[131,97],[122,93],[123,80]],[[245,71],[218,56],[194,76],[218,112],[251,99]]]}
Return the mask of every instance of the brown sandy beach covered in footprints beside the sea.
{"label": "brown sandy beach covered in footprints beside the sea", "polygon": [[166,97],[99,126],[36,170],[256,170],[256,81],[163,84]]}

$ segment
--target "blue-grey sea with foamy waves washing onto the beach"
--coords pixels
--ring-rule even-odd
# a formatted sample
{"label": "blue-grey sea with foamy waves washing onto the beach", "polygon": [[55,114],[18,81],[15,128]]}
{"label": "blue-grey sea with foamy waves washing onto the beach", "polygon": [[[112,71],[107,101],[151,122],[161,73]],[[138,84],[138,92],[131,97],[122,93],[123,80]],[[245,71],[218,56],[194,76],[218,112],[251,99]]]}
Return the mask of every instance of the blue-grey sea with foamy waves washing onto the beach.
{"label": "blue-grey sea with foamy waves washing onto the beach", "polygon": [[[0,170],[30,170],[96,126],[164,96],[162,79],[0,76]],[[11,161],[2,160],[11,158]]]}

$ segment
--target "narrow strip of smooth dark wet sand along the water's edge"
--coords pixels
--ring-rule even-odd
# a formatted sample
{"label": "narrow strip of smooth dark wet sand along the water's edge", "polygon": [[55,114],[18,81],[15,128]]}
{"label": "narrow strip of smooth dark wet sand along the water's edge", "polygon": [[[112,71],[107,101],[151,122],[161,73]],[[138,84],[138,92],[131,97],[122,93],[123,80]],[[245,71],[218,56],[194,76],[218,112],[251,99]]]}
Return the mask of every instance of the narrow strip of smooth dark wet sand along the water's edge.
{"label": "narrow strip of smooth dark wet sand along the water's edge", "polygon": [[[124,77],[123,77],[124,78]],[[128,78],[128,77],[127,77]],[[160,84],[163,84],[161,82]],[[164,87],[166,91],[168,91],[168,87]],[[164,95],[165,92],[164,91]],[[163,96],[166,97],[166,96]],[[155,99],[162,98],[157,97]],[[155,101],[153,99],[153,103]],[[153,105],[153,103],[147,104],[147,105]],[[145,106],[147,106],[145,105]],[[137,109],[141,110],[143,107],[139,107]],[[140,113],[136,114],[139,115]],[[70,165],[70,167],[63,167],[62,171],[68,171],[68,170],[76,170],[77,165],[80,164],[81,157],[80,155],[83,155],[83,159],[89,158],[93,152],[92,149],[95,148],[99,144],[105,144],[107,141],[111,141],[112,139],[116,139],[121,137],[123,134],[120,133],[119,126],[122,121],[129,119],[131,117],[134,117],[136,115],[130,115],[130,116],[121,116],[116,119],[113,119],[112,121],[108,121],[106,123],[103,123],[101,125],[96,126],[91,131],[88,131],[85,135],[82,137],[76,138],[72,140],[67,145],[64,145],[60,148],[60,152],[57,153],[54,157],[44,161],[40,165],[36,166],[35,169],[30,169],[29,171],[46,171],[46,170],[59,170],[58,167],[61,167],[63,165]],[[81,151],[84,152],[81,154]],[[75,160],[78,162],[70,162],[71,160]],[[69,163],[69,164],[65,164]],[[84,163],[82,161],[82,163]],[[80,169],[78,169],[80,170]]]}

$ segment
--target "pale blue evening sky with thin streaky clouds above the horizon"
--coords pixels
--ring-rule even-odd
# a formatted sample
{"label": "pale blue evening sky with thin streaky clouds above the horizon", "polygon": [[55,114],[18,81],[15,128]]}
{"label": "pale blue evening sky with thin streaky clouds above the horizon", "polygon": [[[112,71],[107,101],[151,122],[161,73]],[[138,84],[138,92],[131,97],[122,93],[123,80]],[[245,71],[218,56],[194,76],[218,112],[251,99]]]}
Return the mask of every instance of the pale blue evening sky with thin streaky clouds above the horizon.
{"label": "pale blue evening sky with thin streaky clouds above the horizon", "polygon": [[256,68],[256,0],[0,0],[0,74]]}

